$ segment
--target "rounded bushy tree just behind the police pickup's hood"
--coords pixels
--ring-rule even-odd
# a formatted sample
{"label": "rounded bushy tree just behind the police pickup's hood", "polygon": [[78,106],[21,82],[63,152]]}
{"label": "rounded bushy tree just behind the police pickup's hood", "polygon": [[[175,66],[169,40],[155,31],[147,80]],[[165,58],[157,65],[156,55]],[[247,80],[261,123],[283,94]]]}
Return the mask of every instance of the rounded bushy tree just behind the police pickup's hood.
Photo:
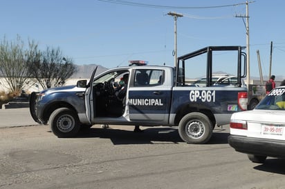
{"label": "rounded bushy tree just behind the police pickup's hood", "polygon": [[35,52],[28,61],[31,77],[35,78],[42,88],[62,86],[66,79],[77,72],[72,59],[62,56],[59,48],[47,47],[43,52]]}

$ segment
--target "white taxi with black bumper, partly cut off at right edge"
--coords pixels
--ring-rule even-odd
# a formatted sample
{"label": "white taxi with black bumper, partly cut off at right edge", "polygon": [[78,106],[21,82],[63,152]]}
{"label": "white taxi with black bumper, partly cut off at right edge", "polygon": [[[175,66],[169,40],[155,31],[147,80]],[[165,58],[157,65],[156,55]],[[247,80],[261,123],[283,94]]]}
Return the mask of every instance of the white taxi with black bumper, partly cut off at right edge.
{"label": "white taxi with black bumper, partly cut off at right edge", "polygon": [[255,163],[285,158],[285,86],[273,89],[254,110],[234,113],[228,143]]}

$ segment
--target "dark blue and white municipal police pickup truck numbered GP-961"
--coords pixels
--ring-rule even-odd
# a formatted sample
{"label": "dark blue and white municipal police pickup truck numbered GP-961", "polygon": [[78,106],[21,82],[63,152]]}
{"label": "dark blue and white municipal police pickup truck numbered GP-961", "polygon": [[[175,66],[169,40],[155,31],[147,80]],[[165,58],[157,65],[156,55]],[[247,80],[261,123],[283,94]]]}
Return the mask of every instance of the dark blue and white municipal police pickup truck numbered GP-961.
{"label": "dark blue and white municipal police pickup truck numbered GP-961", "polygon": [[[178,126],[187,143],[206,143],[214,126],[230,123],[233,112],[246,110],[246,54],[240,46],[209,46],[178,57],[176,67],[126,66],[95,75],[89,83],[33,92],[30,113],[38,123],[49,124],[57,137],[74,137],[93,124]],[[222,56],[223,55],[223,56]],[[215,83],[212,74],[228,68],[235,83]],[[125,97],[116,96],[120,78]],[[195,78],[204,75],[199,86]]]}

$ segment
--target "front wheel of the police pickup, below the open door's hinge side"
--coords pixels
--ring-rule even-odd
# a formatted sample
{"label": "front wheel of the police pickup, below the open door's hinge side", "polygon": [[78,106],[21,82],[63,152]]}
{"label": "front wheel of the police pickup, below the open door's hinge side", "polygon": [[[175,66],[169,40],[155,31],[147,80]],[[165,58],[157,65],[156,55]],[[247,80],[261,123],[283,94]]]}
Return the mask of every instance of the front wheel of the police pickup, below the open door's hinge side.
{"label": "front wheel of the police pickup, below the open door's hinge side", "polygon": [[80,130],[77,114],[68,108],[58,108],[48,121],[50,130],[59,138],[74,137]]}

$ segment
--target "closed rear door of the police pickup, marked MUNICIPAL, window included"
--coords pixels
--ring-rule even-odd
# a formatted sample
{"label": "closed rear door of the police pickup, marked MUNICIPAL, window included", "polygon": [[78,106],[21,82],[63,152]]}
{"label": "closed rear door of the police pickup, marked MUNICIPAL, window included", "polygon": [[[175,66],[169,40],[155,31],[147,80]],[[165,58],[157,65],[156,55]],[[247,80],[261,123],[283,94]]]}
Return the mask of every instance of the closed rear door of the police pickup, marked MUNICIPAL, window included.
{"label": "closed rear door of the police pickup, marked MUNICIPAL, window included", "polygon": [[127,102],[129,119],[141,123],[167,123],[172,84],[166,82],[165,70],[145,67],[133,73]]}

